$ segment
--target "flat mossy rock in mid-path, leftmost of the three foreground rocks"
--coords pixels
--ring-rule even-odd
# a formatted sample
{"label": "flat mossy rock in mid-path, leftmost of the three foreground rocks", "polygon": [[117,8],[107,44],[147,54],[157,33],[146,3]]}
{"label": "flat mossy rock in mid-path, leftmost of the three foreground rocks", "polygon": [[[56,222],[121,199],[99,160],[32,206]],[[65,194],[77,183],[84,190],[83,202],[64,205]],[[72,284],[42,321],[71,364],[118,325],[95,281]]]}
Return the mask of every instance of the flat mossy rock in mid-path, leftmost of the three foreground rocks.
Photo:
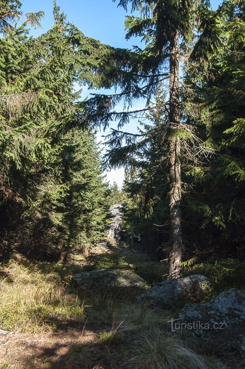
{"label": "flat mossy rock in mid-path, leftmost of the three foreground rocks", "polygon": [[110,288],[146,289],[146,283],[132,269],[101,269],[77,273],[71,280],[80,290],[107,290]]}

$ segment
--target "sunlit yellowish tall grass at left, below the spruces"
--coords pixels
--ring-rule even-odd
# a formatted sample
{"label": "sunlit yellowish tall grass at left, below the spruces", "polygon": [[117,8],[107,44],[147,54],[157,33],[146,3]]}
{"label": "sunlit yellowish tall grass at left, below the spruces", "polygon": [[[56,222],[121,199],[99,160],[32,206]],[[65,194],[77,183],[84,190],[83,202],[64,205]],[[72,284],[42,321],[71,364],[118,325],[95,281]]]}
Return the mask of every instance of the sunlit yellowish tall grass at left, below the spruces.
{"label": "sunlit yellowish tall grass at left, below the spruces", "polygon": [[57,273],[43,274],[15,255],[1,268],[0,326],[9,331],[52,331],[69,321],[84,321],[84,307],[66,299]]}

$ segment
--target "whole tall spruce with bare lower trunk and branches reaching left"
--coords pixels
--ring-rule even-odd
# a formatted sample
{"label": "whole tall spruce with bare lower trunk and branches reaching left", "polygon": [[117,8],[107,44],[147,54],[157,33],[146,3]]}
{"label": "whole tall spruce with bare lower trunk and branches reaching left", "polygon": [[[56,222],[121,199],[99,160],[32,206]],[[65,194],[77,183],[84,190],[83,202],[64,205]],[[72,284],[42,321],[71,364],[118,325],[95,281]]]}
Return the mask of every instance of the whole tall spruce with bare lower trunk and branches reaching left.
{"label": "whole tall spruce with bare lower trunk and branches reaching left", "polygon": [[[157,116],[158,129],[156,130],[153,124],[151,138],[149,137],[150,127],[146,132],[142,132],[141,136],[145,137],[142,141],[154,142],[152,136],[157,131],[161,138],[158,140],[160,158],[164,155],[166,159],[161,166],[162,168],[165,166],[164,172],[168,170],[169,173],[169,241],[165,246],[168,251],[169,275],[177,277],[181,270],[183,257],[181,214],[184,192],[181,180],[183,163],[189,159],[196,165],[200,157],[199,153],[207,151],[202,146],[202,140],[196,135],[195,125],[187,124],[185,113],[182,111],[179,96],[179,63],[181,56],[187,59],[196,58],[204,52],[204,47],[207,45],[210,50],[216,49],[220,43],[220,35],[215,27],[216,15],[209,10],[207,1],[119,1],[119,5],[125,9],[127,4],[132,4],[132,12],[138,11],[140,15],[126,18],[126,38],[141,37],[145,47],[144,49],[135,48],[134,55],[137,55],[137,58],[134,57],[128,62],[129,68],[125,73],[128,78],[130,77],[131,84],[120,79],[122,93],[117,94],[116,98],[115,95],[113,97],[103,96],[97,100],[97,104],[99,105],[104,99],[106,106],[111,108],[115,101],[118,101],[116,99],[124,99],[125,104],[128,100],[139,97],[146,99],[146,107],[140,111],[128,111],[120,115],[115,112],[111,113],[111,116],[119,119],[119,128],[129,121],[129,116],[138,117],[141,114],[141,117],[148,118],[146,113],[152,110]],[[203,29],[199,27],[200,17],[204,19]],[[214,25],[211,22],[213,18]],[[199,33],[196,33],[196,30]],[[212,42],[213,39],[216,42]],[[188,55],[187,50],[190,43],[195,46],[192,48],[192,53]],[[157,94],[161,89],[163,90],[162,95],[167,98],[160,101],[157,99]],[[103,116],[105,124],[108,124],[109,108],[105,110]],[[158,108],[164,108],[164,114],[160,115]],[[108,156],[111,166],[126,163],[132,165],[133,159],[138,157],[137,149],[139,146],[142,147],[142,142],[141,144],[132,143],[130,136],[132,136],[130,133],[122,134],[121,131],[113,131],[109,141],[113,151]],[[135,139],[137,137],[138,135],[134,136]],[[126,140],[126,146],[122,147],[123,139]],[[147,146],[144,145],[144,147],[147,151]],[[147,157],[146,151],[143,154],[145,157]],[[160,166],[161,159],[157,159],[157,162]],[[147,186],[152,186],[151,180],[148,181]],[[148,199],[153,201],[150,197]]]}

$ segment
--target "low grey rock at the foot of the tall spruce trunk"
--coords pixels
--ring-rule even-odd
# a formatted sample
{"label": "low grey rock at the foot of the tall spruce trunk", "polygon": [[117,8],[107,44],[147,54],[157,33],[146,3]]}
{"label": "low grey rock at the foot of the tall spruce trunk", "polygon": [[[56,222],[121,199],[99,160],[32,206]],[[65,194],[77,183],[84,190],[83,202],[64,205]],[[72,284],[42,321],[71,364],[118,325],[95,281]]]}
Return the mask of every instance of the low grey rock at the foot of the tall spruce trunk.
{"label": "low grey rock at the foot of the tall spruce trunk", "polygon": [[203,292],[210,288],[210,280],[200,274],[189,277],[168,279],[157,283],[146,293],[137,296],[139,302],[151,301],[158,306],[166,306],[181,299],[183,291],[192,293],[192,289],[198,285]]}

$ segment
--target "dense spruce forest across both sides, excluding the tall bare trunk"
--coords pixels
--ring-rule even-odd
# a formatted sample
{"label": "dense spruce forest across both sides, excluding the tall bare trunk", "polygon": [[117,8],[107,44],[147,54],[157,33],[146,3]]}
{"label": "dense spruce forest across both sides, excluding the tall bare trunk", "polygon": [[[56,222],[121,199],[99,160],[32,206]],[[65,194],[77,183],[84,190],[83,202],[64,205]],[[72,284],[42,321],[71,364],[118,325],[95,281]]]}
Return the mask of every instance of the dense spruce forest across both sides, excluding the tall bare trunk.
{"label": "dense spruce forest across both sides, excluding the tall bare trunk", "polygon": [[[184,260],[244,258],[244,2],[224,1],[217,11],[207,2],[178,9],[172,4],[162,13],[147,1],[132,6],[141,17],[126,18],[126,37],[140,36],[146,47],[129,51],[86,37],[56,4],[53,27],[30,37],[28,27],[38,27],[43,13],[24,15],[19,1],[1,2],[2,258],[16,249],[57,259],[99,241],[113,202],[127,203],[125,239],[167,257],[174,135],[180,143]],[[164,40],[162,24],[170,30]],[[183,76],[181,125],[173,129],[168,58],[176,30]],[[118,92],[80,101],[75,82],[116,86]],[[139,97],[146,107],[133,111]],[[127,109],[117,113],[122,100]],[[121,128],[132,116],[139,134]],[[94,130],[114,119],[119,128],[101,159]],[[122,191],[116,184],[109,189],[102,164],[125,166]]]}

